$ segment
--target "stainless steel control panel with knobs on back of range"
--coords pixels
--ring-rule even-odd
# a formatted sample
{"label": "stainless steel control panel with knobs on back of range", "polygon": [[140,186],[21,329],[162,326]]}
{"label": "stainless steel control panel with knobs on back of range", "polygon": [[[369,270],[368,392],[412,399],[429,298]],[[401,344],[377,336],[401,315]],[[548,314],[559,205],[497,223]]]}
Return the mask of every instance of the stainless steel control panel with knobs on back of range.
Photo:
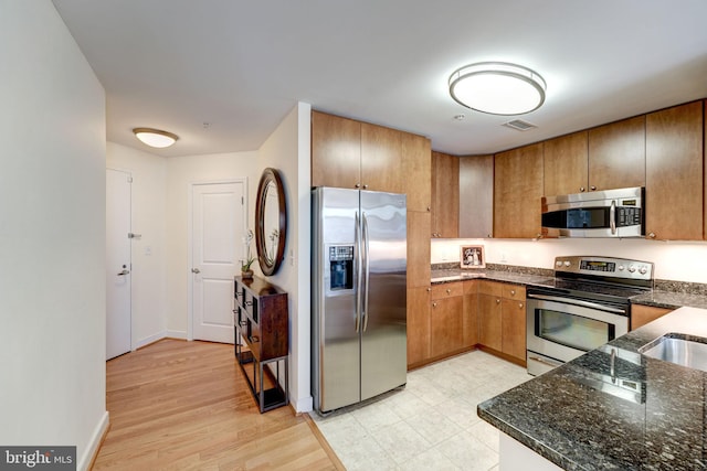
{"label": "stainless steel control panel with knobs on back of range", "polygon": [[653,264],[651,261],[627,258],[576,255],[556,257],[555,271],[639,280],[653,279]]}

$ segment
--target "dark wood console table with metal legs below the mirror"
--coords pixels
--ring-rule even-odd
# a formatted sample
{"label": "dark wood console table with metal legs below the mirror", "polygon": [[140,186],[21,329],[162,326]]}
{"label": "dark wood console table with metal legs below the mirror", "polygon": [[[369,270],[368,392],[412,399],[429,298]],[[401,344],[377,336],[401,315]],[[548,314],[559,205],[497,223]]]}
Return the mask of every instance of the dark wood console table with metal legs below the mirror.
{"label": "dark wood console table with metal legs below the mirror", "polygon": [[[261,278],[235,277],[234,280],[235,358],[261,413],[264,413],[284,406],[288,400],[287,292]],[[279,383],[281,362],[284,363],[284,389]],[[252,373],[246,370],[249,364],[253,365]],[[265,368],[265,376],[272,383],[272,386],[265,389],[263,365],[267,364],[274,364],[275,372],[273,375],[272,368]]]}

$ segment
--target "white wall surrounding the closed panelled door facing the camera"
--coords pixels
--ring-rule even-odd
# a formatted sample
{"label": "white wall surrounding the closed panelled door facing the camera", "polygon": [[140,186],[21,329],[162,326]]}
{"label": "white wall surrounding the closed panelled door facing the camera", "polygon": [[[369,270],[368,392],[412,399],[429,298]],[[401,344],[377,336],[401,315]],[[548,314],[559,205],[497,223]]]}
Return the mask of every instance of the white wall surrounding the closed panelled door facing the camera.
{"label": "white wall surrounding the closed panelled door facing the camera", "polygon": [[[167,162],[166,282],[167,334],[187,339],[189,332],[189,280],[193,276],[189,261],[190,184],[246,179],[246,211],[255,206],[253,186],[257,188],[262,167],[257,152],[233,152],[207,156],[172,157]],[[253,216],[249,214],[249,221]],[[252,227],[252,226],[251,226]],[[236,274],[233,274],[236,275]]]}

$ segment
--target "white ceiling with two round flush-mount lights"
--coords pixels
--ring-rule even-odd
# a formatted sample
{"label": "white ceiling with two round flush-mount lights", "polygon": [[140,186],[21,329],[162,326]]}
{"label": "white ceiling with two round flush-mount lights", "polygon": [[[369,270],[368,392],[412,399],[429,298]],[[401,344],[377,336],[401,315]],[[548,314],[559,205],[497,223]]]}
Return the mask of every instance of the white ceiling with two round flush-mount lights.
{"label": "white ceiling with two round flush-mount lights", "polygon": [[[705,0],[53,2],[106,89],[108,140],[179,135],[160,156],[256,150],[297,101],[474,154],[707,97]],[[450,74],[482,61],[545,77],[519,116],[537,129],[452,100]]]}

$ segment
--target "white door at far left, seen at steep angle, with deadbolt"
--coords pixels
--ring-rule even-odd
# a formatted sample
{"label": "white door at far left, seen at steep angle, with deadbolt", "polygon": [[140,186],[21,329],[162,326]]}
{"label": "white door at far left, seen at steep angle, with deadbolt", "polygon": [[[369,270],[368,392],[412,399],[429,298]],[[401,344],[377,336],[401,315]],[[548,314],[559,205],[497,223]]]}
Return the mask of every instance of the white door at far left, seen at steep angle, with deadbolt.
{"label": "white door at far left, seen at steep angle, with deadbolt", "polygon": [[106,360],[131,350],[130,183],[106,169]]}

